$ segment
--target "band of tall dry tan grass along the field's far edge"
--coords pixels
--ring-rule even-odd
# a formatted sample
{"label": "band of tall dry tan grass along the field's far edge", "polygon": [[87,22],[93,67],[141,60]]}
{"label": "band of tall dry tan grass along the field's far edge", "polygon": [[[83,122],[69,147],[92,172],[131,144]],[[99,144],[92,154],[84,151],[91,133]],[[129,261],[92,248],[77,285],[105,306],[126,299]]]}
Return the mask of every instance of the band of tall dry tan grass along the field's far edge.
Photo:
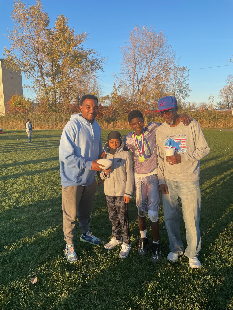
{"label": "band of tall dry tan grass along the field's far edge", "polygon": [[[229,128],[233,129],[233,117],[229,112],[211,111],[180,111],[186,113],[190,117],[199,122],[202,128]],[[33,129],[63,129],[66,123],[70,120],[71,114],[63,113],[47,113],[47,114],[10,114],[0,116],[0,127],[3,129],[25,129],[25,122],[30,118]],[[128,123],[128,114],[114,116],[112,118],[99,118],[97,121],[102,129],[130,129]],[[163,118],[157,113],[150,112],[145,114],[145,124],[148,122],[163,122]]]}

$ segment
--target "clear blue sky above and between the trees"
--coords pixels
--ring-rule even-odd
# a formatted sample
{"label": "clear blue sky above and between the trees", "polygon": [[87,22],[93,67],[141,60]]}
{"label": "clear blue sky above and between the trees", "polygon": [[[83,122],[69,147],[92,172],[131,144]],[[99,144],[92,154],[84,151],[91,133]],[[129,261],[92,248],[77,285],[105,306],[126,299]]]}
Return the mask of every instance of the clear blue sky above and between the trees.
{"label": "clear blue sky above and between the trees", "polygon": [[[3,47],[9,42],[3,33],[13,28],[11,12],[13,0],[0,0],[0,58]],[[27,0],[27,4],[34,1]],[[43,1],[51,26],[59,14],[68,17],[68,24],[75,33],[89,33],[85,47],[94,48],[107,57],[105,73],[100,77],[103,95],[112,91],[111,74],[119,68],[120,46],[124,44],[136,24],[156,27],[180,57],[180,65],[188,69],[225,66],[233,55],[233,2],[231,0],[203,1]],[[189,70],[192,89],[186,101],[208,102],[214,95],[219,100],[219,90],[226,77],[233,74],[233,66]],[[28,81],[23,79],[23,83]],[[29,95],[33,99],[33,94]]]}

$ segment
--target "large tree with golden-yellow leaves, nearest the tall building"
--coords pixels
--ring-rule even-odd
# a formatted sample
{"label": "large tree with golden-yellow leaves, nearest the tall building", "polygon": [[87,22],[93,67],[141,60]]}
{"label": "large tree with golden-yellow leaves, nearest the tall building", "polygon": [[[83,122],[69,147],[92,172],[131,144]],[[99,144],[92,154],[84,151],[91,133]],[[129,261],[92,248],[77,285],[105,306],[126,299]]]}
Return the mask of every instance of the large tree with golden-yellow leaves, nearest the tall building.
{"label": "large tree with golden-yellow leaves, nearest the tall building", "polygon": [[87,33],[75,35],[68,19],[59,15],[52,29],[40,0],[26,7],[14,0],[11,17],[15,24],[6,35],[11,48],[4,47],[4,64],[21,70],[32,81],[32,88],[47,104],[73,100],[75,82],[103,69],[104,59],[93,49],[84,49]]}

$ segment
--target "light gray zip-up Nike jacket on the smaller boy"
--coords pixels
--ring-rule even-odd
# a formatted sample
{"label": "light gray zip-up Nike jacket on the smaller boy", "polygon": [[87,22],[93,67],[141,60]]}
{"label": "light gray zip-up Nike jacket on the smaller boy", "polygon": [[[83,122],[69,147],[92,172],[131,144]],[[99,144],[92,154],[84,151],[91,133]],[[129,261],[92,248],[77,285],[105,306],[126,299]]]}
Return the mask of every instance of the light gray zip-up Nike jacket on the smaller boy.
{"label": "light gray zip-up Nike jacket on the smaller boy", "polygon": [[100,173],[100,178],[104,181],[104,193],[107,196],[126,196],[132,198],[134,176],[130,153],[123,150],[124,142],[116,150],[115,156],[108,152],[107,143],[103,149],[107,154],[107,159],[112,161],[112,171],[104,175]]}

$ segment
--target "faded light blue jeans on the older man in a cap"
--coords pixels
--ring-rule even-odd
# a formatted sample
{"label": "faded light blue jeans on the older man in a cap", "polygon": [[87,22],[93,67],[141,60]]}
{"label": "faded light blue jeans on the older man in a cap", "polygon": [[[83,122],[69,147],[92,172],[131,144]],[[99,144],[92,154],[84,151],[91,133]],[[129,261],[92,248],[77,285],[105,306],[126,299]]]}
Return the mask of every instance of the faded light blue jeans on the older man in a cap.
{"label": "faded light blue jeans on the older man in a cap", "polygon": [[185,221],[187,248],[185,255],[192,258],[199,255],[201,237],[199,219],[201,209],[201,192],[198,181],[173,181],[165,179],[169,194],[162,195],[164,221],[169,238],[169,249],[178,255],[183,254],[184,245],[180,238],[180,208],[182,202]]}

